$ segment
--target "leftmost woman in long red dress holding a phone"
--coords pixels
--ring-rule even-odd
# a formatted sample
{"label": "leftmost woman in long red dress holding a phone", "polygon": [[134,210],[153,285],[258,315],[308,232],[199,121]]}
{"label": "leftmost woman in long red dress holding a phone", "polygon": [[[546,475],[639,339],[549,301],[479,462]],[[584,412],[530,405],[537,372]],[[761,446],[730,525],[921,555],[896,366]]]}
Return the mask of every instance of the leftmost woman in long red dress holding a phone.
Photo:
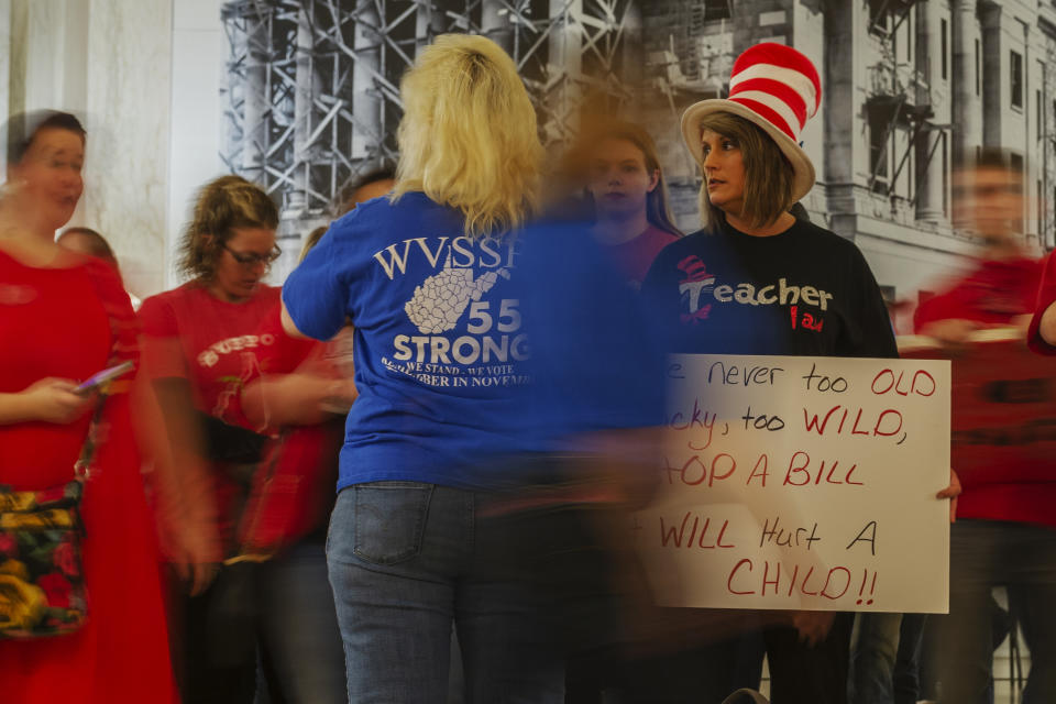
{"label": "leftmost woman in long red dress holding a phone", "polygon": [[[96,394],[78,380],[135,361],[135,316],[114,271],[55,244],[84,188],[85,130],[73,116],[38,112],[8,125],[0,197],[0,484],[62,487],[86,442]],[[128,383],[124,383],[128,386]],[[0,640],[4,702],[174,702],[176,691],[150,518],[127,393],[106,399],[84,484],[81,554],[87,622],[75,632]],[[18,580],[25,546],[0,534],[0,574]],[[55,552],[58,558],[59,552]],[[76,563],[56,560],[50,598],[68,602]],[[43,580],[44,578],[42,578]],[[19,606],[7,588],[0,612]]]}

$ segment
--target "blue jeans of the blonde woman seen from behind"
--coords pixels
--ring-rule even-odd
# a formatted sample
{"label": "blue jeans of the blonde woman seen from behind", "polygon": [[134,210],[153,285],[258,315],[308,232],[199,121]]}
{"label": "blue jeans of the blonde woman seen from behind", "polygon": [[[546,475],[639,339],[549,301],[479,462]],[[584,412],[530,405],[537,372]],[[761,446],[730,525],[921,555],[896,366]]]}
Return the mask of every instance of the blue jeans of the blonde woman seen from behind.
{"label": "blue jeans of the blonde woman seen from behind", "polygon": [[417,482],[338,495],[327,559],[350,702],[444,701],[452,620],[468,704],[563,702],[546,604],[504,554],[520,541],[477,517],[481,498]]}

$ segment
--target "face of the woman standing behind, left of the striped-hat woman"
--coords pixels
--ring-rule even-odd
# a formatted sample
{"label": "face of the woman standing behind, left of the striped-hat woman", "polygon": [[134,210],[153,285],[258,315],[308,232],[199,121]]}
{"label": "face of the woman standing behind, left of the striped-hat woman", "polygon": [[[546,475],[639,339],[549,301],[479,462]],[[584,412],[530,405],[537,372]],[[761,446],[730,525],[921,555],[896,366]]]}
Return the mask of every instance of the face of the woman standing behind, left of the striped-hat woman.
{"label": "face of the woman standing behind, left of the striped-hat woman", "polygon": [[646,167],[646,155],[634,142],[605,139],[591,156],[587,189],[598,217],[627,217],[646,209],[646,198],[660,180]]}

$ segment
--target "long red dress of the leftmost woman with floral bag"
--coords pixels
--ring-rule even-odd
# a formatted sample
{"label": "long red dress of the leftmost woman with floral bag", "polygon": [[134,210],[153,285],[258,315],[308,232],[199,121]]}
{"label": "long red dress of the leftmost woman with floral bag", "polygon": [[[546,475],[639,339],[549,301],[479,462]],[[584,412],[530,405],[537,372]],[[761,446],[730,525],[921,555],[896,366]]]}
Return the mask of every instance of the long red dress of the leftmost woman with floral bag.
{"label": "long red dress of the leftmost woman with floral bag", "polygon": [[[45,376],[87,378],[114,353],[135,356],[135,318],[108,265],[86,258],[70,268],[34,268],[0,251],[0,393]],[[81,506],[88,622],[66,636],[0,640],[0,701],[177,701],[128,394],[109,398],[103,424]],[[85,416],[68,425],[0,426],[0,483],[44,488],[69,481],[88,425]]]}

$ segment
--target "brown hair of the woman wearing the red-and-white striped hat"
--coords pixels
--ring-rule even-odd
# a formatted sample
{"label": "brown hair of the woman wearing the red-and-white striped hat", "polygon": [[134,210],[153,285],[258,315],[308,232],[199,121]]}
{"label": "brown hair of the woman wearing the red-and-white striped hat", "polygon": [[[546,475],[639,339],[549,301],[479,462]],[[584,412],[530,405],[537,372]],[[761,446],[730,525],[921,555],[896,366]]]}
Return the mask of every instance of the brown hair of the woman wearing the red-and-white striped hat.
{"label": "brown hair of the woman wearing the red-and-white striped hat", "polygon": [[[744,209],[739,215],[754,228],[774,222],[792,207],[792,164],[769,134],[749,120],[732,112],[713,112],[701,120],[700,130],[711,130],[733,140],[740,147],[745,165]],[[700,139],[700,138],[697,138]],[[707,174],[701,184],[701,222],[716,230],[724,213],[707,197]]]}

